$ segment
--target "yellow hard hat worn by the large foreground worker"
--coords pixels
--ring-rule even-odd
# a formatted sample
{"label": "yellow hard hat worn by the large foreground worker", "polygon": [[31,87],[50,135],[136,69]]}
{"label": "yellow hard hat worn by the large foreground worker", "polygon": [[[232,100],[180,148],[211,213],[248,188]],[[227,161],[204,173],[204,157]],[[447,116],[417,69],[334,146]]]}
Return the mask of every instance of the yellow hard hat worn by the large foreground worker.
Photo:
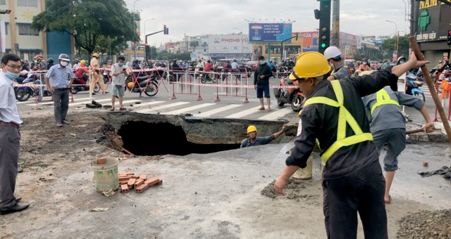
{"label": "yellow hard hat worn by the large foreground worker", "polygon": [[328,72],[330,72],[330,65],[326,57],[319,52],[309,51],[297,57],[295,68],[288,79],[319,77]]}

